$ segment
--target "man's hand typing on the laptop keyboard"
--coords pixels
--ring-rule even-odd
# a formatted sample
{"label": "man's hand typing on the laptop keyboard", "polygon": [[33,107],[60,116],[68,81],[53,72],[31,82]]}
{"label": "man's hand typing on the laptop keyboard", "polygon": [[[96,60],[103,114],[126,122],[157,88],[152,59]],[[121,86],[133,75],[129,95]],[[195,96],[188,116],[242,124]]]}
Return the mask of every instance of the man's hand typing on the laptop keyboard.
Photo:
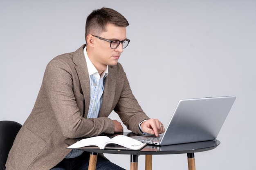
{"label": "man's hand typing on the laptop keyboard", "polygon": [[155,134],[157,137],[164,132],[164,126],[158,119],[149,119],[141,123],[142,132]]}

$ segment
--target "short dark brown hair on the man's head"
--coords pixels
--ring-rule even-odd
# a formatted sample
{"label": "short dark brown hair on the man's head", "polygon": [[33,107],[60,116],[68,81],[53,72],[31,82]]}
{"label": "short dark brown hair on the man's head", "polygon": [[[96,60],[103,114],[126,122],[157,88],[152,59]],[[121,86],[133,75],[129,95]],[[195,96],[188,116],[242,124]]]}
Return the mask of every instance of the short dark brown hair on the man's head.
{"label": "short dark brown hair on the man's head", "polygon": [[129,23],[121,13],[114,9],[103,7],[96,9],[88,15],[85,24],[85,41],[89,34],[99,35],[102,32],[107,31],[106,25],[113,24],[115,26],[128,26]]}

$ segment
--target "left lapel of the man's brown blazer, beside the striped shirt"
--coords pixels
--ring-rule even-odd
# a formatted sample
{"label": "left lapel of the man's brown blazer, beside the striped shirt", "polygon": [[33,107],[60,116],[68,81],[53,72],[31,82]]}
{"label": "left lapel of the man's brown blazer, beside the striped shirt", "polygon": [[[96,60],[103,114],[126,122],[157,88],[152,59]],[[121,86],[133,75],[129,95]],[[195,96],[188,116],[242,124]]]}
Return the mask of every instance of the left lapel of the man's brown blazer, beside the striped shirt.
{"label": "left lapel of the man's brown blazer, beside the striped shirt", "polygon": [[79,77],[79,82],[81,84],[83,96],[85,99],[85,113],[83,113],[83,117],[86,118],[90,106],[90,78],[85,56],[83,54],[83,48],[85,48],[85,45],[81,46],[78,50],[75,51],[73,62],[76,64],[75,69]]}

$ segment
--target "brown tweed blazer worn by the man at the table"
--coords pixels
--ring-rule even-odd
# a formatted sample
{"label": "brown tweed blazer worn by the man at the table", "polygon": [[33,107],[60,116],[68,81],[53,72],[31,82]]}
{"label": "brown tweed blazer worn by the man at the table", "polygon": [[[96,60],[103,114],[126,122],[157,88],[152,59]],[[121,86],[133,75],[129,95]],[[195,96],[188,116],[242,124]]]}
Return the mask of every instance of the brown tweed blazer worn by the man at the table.
{"label": "brown tweed blazer worn by the man at the table", "polygon": [[6,170],[49,170],[70,152],[64,140],[114,133],[108,115],[115,110],[129,130],[141,134],[138,124],[149,119],[132,95],[121,66],[109,66],[101,110],[86,119],[90,80],[83,48],[55,57],[46,67],[31,114],[20,129],[6,163]]}

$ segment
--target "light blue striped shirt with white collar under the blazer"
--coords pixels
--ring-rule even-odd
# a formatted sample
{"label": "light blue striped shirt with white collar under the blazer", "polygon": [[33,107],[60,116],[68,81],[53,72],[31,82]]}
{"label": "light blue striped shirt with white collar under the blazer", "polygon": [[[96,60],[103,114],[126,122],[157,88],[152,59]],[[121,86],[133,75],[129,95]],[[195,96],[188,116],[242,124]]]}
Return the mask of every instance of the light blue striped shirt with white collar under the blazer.
{"label": "light blue striped shirt with white collar under the blazer", "polygon": [[[92,62],[90,61],[86,48],[84,48],[83,53],[85,55],[85,60],[87,63],[87,68],[90,77],[90,106],[88,110],[87,119],[89,118],[97,118],[99,116],[99,111],[101,109],[102,103],[102,94],[104,91],[104,78],[108,75],[108,66],[106,70],[99,75],[97,69],[94,67]],[[75,158],[82,155],[82,150],[72,149],[65,158]]]}

